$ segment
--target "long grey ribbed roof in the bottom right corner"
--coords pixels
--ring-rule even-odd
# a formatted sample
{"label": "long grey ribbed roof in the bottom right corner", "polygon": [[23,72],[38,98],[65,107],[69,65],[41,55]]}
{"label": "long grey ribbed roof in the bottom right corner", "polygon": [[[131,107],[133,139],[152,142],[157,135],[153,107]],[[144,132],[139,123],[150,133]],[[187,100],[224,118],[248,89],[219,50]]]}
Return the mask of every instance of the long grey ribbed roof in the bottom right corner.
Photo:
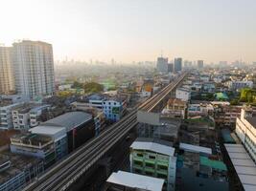
{"label": "long grey ribbed roof in the bottom right corner", "polygon": [[245,191],[256,190],[256,164],[242,144],[224,144]]}

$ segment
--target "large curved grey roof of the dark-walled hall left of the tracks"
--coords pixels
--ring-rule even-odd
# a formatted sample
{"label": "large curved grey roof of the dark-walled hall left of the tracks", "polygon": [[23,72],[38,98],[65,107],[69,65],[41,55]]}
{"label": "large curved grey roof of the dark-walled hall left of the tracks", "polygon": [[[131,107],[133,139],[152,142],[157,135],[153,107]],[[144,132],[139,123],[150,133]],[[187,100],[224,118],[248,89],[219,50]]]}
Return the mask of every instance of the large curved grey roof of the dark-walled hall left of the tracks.
{"label": "large curved grey roof of the dark-walled hall left of the tracks", "polygon": [[82,123],[90,120],[92,115],[84,112],[69,112],[59,117],[52,118],[42,123],[44,126],[60,126],[65,127],[66,131],[70,131],[75,127],[78,127]]}

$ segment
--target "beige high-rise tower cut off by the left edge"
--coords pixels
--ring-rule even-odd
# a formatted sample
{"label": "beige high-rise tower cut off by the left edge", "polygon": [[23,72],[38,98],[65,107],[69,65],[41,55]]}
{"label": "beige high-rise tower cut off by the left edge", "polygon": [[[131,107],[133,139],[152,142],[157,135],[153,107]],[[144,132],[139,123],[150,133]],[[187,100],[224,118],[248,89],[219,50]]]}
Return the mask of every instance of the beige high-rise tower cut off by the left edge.
{"label": "beige high-rise tower cut off by the left edge", "polygon": [[13,90],[12,47],[0,47],[0,94],[10,94]]}

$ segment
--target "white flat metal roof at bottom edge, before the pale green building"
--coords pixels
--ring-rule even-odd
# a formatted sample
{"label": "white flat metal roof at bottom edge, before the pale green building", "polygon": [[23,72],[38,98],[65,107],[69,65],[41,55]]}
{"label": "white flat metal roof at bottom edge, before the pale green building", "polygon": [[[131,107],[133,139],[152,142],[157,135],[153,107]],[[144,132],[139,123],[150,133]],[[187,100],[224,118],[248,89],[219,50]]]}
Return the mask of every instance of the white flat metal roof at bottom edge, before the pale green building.
{"label": "white flat metal roof at bottom edge, before the pale green building", "polygon": [[147,177],[124,171],[112,173],[112,175],[106,181],[118,185],[124,185],[130,188],[139,188],[151,191],[161,191],[164,184],[164,180],[162,179]]}

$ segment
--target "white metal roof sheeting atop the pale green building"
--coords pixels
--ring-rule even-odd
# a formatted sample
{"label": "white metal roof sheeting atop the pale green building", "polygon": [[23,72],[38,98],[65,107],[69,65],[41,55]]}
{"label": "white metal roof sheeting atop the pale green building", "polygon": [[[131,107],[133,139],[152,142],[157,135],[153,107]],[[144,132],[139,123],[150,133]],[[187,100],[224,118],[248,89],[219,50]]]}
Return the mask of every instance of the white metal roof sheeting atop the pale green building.
{"label": "white metal roof sheeting atop the pale green building", "polygon": [[175,148],[171,146],[166,146],[156,142],[148,141],[134,141],[130,147],[136,150],[147,150],[153,151],[155,153],[161,153],[168,156],[174,156]]}

